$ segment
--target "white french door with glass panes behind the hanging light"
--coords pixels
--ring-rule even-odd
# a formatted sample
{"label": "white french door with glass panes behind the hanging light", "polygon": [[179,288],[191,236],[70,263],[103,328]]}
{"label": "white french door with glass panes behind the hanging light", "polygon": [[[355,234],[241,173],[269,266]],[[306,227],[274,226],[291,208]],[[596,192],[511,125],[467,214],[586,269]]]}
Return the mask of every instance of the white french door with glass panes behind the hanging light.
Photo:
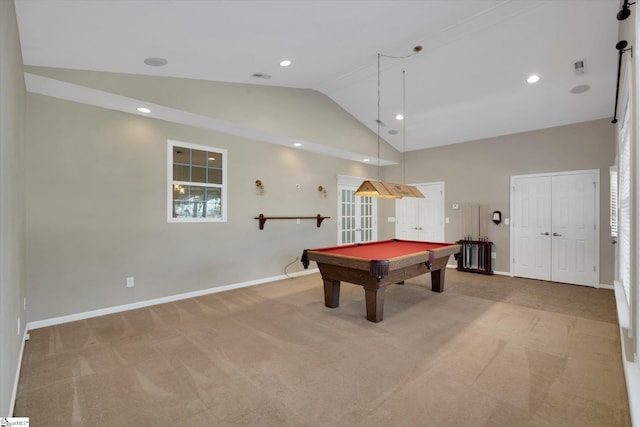
{"label": "white french door with glass panes behind the hanging light", "polygon": [[[378,238],[377,199],[355,196],[355,184],[338,184],[338,244],[362,243]],[[357,185],[356,185],[357,184]]]}

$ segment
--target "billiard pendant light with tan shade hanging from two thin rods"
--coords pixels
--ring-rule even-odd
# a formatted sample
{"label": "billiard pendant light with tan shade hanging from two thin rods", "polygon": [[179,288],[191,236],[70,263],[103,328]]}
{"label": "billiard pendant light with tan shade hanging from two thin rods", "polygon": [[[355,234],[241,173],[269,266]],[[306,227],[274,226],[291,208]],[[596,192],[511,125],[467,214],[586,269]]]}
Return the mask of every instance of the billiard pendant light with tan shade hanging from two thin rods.
{"label": "billiard pendant light with tan shade hanging from two thin rods", "polygon": [[[364,181],[362,184],[360,184],[360,187],[358,187],[358,189],[356,190],[355,192],[356,196],[376,197],[376,198],[382,198],[382,199],[401,199],[403,197],[417,197],[417,198],[424,199],[424,194],[422,194],[420,190],[418,190],[413,185],[404,184],[404,151],[402,153],[403,183],[395,184],[392,182],[380,181],[380,126],[383,125],[382,121],[380,120],[380,57],[392,58],[392,59],[404,59],[419,53],[421,50],[422,50],[422,46],[416,46],[413,48],[413,53],[410,53],[406,56],[389,56],[389,55],[382,55],[380,53],[378,54],[378,118],[376,119],[376,123],[378,124],[378,133],[377,133],[378,135],[378,180]],[[405,129],[405,123],[406,123],[406,117],[407,117],[406,112],[404,111],[405,110],[404,104],[405,104],[405,97],[406,97],[404,76],[405,74],[403,71],[402,72],[402,115],[405,118],[405,120],[403,121],[403,133],[402,133],[402,138],[403,138],[402,149],[403,150],[404,150],[404,140],[405,140],[404,129]]]}

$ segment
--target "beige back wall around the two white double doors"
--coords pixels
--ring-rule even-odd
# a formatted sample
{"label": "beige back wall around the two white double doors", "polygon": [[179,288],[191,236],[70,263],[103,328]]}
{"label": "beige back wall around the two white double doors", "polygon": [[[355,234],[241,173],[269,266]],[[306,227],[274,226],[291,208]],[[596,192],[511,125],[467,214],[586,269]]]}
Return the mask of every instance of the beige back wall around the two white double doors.
{"label": "beige back wall around the two white double doors", "polygon": [[[613,112],[612,112],[613,113]],[[501,136],[481,141],[413,151],[406,155],[406,181],[445,182],[445,240],[465,236],[463,210],[458,203],[480,204],[483,229],[495,243],[494,269],[510,272],[509,227],[490,221],[494,210],[510,217],[509,182],[513,175],[600,170],[600,283],[613,284],[613,245],[609,236],[609,166],[615,157],[614,126],[610,119]],[[385,179],[402,179],[402,168],[385,168]],[[382,235],[393,236],[392,206],[380,211]]]}

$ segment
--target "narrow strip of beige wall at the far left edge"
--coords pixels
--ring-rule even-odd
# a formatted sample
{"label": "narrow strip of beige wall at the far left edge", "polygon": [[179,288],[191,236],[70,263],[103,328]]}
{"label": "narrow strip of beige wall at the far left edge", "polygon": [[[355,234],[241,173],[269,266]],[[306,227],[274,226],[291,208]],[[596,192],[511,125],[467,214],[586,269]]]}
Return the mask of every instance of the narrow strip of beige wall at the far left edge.
{"label": "narrow strip of beige wall at the far left edge", "polygon": [[0,416],[7,416],[13,413],[12,392],[27,321],[23,307],[25,84],[13,1],[0,1],[0,94]]}

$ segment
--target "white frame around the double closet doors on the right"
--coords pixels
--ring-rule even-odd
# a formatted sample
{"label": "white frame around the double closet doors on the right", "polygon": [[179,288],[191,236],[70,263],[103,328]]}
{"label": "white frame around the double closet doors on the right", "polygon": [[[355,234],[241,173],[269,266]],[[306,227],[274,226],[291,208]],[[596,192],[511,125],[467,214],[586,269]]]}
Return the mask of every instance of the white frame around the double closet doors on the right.
{"label": "white frame around the double closet doors on the right", "polygon": [[[515,187],[514,181],[516,179],[522,178],[539,178],[544,176],[562,176],[562,175],[577,175],[577,174],[586,174],[593,173],[595,175],[596,180],[596,188],[595,188],[595,200],[594,200],[594,222],[595,222],[595,236],[594,236],[594,261],[596,263],[596,273],[598,274],[597,283],[594,284],[594,287],[600,287],[600,169],[583,169],[583,170],[574,170],[574,171],[562,171],[562,172],[545,172],[545,173],[535,173],[535,174],[526,174],[526,175],[511,175],[509,179],[509,209],[510,212],[515,212],[515,197],[513,194],[513,189]],[[513,255],[515,248],[515,233],[514,227],[512,224],[509,225],[509,275],[514,277],[513,275]],[[589,285],[585,285],[589,286]]]}

